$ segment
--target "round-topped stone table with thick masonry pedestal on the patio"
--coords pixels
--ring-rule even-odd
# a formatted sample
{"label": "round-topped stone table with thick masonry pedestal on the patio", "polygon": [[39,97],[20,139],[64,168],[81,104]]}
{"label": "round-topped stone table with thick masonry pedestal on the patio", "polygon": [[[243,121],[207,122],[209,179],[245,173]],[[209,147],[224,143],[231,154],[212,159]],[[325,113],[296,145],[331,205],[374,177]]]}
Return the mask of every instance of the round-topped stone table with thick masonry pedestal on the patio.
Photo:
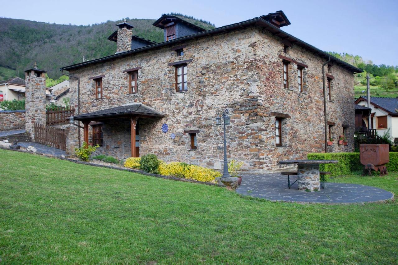
{"label": "round-topped stone table with thick masonry pedestal on the patio", "polygon": [[297,183],[299,190],[319,190],[319,165],[336,164],[338,160],[283,160],[281,165],[297,165]]}

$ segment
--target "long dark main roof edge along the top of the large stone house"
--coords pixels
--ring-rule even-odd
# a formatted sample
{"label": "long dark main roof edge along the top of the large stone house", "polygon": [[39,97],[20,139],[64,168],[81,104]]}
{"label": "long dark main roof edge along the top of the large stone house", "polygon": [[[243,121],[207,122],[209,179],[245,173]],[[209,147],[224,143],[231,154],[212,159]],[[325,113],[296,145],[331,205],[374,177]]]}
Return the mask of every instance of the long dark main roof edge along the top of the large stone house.
{"label": "long dark main roof edge along the top of the large stone house", "polygon": [[[263,27],[264,29],[266,29],[267,31],[271,32],[273,35],[277,35],[278,37],[280,37],[281,39],[283,39],[284,41],[289,41],[291,43],[294,43],[295,45],[298,45],[300,47],[304,47],[304,49],[307,49],[313,53],[315,53],[316,55],[319,55],[323,58],[325,58],[326,60],[328,58],[331,59],[331,62],[335,62],[336,64],[339,64],[340,66],[350,70],[352,73],[361,73],[363,72],[363,70],[352,66],[351,64],[344,62],[292,35],[290,35],[289,33],[286,33],[285,31],[279,29],[278,27],[272,25],[270,22],[266,21],[264,18],[266,16],[262,16],[260,18],[252,18],[252,19],[248,19],[246,21],[242,21],[242,22],[238,22],[238,23],[234,23],[234,24],[230,24],[230,25],[226,25],[226,26],[222,26],[222,27],[217,27],[215,29],[209,29],[209,30],[205,30],[199,33],[195,33],[192,35],[188,35],[188,36],[184,36],[184,37],[180,37],[177,39],[173,39],[171,41],[164,41],[161,43],[156,43],[156,44],[152,44],[152,45],[148,45],[142,48],[138,48],[138,49],[134,49],[131,51],[126,51],[123,53],[117,53],[115,55],[109,55],[107,57],[103,57],[103,58],[98,58],[98,59],[94,59],[94,60],[90,60],[90,61],[86,61],[86,62],[80,62],[78,64],[72,64],[69,66],[65,66],[60,68],[60,70],[70,70],[70,69],[74,69],[74,68],[79,68],[82,66],[86,66],[89,64],[94,64],[96,62],[103,62],[106,60],[113,60],[115,58],[118,57],[125,57],[127,55],[131,55],[131,54],[135,54],[135,53],[140,53],[143,51],[148,51],[150,49],[157,49],[160,47],[164,47],[167,45],[178,45],[181,42],[187,41],[187,40],[191,40],[191,39],[195,39],[195,38],[199,38],[199,37],[205,37],[205,36],[209,36],[209,35],[213,35],[213,34],[223,34],[226,33],[228,31],[231,30],[239,30],[239,29],[244,29],[246,27],[249,26],[258,26],[258,27]],[[156,22],[155,22],[156,23]]]}

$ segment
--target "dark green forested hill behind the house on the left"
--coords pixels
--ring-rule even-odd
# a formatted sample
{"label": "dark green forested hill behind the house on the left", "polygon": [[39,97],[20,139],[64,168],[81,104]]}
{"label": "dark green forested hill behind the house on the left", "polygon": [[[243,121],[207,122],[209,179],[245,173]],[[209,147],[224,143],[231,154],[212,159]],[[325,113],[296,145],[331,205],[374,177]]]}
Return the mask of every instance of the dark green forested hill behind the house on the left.
{"label": "dark green forested hill behind the house on the left", "polygon": [[[174,14],[183,16],[181,14]],[[214,25],[189,16],[183,19],[204,27]],[[156,19],[129,19],[133,34],[162,42],[163,31],[154,27]],[[107,21],[93,25],[60,25],[23,19],[0,18],[0,80],[23,77],[23,71],[37,62],[51,78],[59,78],[59,68],[82,62],[83,56],[92,60],[112,55],[116,43],[107,37],[117,29],[116,23]]]}

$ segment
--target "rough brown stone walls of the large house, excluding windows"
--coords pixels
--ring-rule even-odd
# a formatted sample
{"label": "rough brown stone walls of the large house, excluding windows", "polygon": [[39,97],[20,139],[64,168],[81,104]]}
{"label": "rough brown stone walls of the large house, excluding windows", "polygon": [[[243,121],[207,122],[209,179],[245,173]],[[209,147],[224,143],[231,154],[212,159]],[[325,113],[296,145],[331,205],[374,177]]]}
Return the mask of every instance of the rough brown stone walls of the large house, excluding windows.
{"label": "rough brown stone walls of the large house, excluding windows", "polygon": [[[80,113],[128,103],[144,103],[164,113],[163,119],[139,119],[140,155],[154,153],[166,162],[221,169],[223,133],[222,126],[215,125],[215,117],[216,111],[226,107],[231,113],[228,158],[243,161],[245,170],[276,171],[281,168],[279,160],[324,152],[322,58],[295,45],[283,54],[279,37],[255,27],[187,41],[184,45],[182,57],[177,57],[172,47],[163,47],[70,70],[80,77]],[[297,65],[293,63],[289,64],[291,87],[283,88],[282,59],[278,55],[308,65],[303,73],[305,93],[298,92]],[[168,63],[188,59],[192,59],[187,64],[188,91],[176,93],[175,67]],[[138,72],[139,93],[129,94],[129,76],[123,70],[138,66],[142,67]],[[350,151],[354,129],[353,76],[337,65],[332,74],[335,97],[327,107],[328,120],[336,123],[333,134],[338,134],[343,123],[350,125],[349,145],[334,146],[334,151]],[[89,80],[99,75],[105,75],[102,99],[96,99],[94,81]],[[76,90],[77,82],[71,80],[71,102],[75,105]],[[281,147],[275,146],[272,112],[290,115],[282,122]],[[128,121],[125,122],[119,124],[123,131],[104,121],[104,146],[100,150],[118,158],[129,156],[130,132]],[[167,133],[162,133],[164,123],[169,127]],[[191,150],[185,130],[199,131],[197,150]],[[171,133],[175,139],[170,138]],[[112,148],[121,146],[119,142],[123,148]]]}

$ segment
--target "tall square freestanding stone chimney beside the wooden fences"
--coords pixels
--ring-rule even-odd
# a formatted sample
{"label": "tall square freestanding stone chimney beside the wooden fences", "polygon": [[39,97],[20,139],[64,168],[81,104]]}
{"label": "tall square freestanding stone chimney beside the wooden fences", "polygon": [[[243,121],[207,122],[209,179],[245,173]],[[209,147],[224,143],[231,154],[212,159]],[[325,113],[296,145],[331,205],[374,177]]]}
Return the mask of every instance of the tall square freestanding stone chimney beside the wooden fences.
{"label": "tall square freestanding stone chimney beside the wooden fences", "polygon": [[46,125],[46,76],[47,71],[37,68],[25,70],[25,129],[35,138],[35,123]]}

